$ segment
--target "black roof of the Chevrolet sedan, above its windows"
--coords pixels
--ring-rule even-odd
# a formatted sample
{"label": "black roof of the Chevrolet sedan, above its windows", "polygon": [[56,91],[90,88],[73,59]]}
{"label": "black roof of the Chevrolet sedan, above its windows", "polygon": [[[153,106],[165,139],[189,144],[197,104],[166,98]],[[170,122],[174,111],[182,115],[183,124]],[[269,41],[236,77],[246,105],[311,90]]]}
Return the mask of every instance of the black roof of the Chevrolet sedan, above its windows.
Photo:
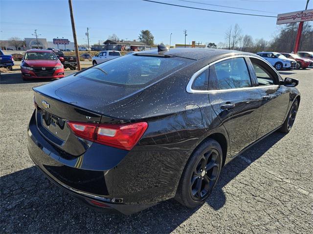
{"label": "black roof of the Chevrolet sedan, above its windows", "polygon": [[141,52],[135,52],[136,54],[152,54],[152,55],[172,55],[176,57],[186,58],[186,59],[194,59],[194,60],[200,60],[204,58],[213,58],[213,57],[219,57],[220,55],[226,55],[226,54],[242,54],[242,55],[251,55],[256,56],[255,54],[242,52],[242,51],[236,51],[236,50],[224,50],[224,49],[206,49],[206,48],[175,48],[170,49],[167,51],[160,51],[157,50],[146,50]]}

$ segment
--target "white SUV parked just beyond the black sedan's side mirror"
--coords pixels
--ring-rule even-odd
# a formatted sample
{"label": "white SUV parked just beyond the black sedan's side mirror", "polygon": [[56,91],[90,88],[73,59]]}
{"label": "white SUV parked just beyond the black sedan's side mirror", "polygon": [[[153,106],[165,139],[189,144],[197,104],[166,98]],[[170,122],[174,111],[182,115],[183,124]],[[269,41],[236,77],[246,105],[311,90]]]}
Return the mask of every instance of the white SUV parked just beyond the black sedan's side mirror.
{"label": "white SUV parked just beyond the black sedan's side mirror", "polygon": [[288,59],[280,53],[276,52],[259,52],[257,55],[263,57],[263,59],[267,60],[276,70],[281,70],[283,68],[286,69],[295,69],[296,68],[296,60]]}

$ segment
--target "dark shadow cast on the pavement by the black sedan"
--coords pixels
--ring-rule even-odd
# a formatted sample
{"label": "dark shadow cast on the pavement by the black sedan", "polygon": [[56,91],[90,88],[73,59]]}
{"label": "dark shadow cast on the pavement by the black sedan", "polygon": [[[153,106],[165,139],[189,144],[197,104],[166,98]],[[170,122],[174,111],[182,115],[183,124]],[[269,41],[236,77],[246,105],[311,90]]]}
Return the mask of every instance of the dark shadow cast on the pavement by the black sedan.
{"label": "dark shadow cast on the pavement by the black sedan", "polygon": [[[224,186],[284,136],[275,132],[226,164],[207,204],[222,208]],[[130,216],[95,212],[53,185],[35,166],[0,177],[0,184],[1,230],[8,233],[170,233],[199,209],[171,199]]]}

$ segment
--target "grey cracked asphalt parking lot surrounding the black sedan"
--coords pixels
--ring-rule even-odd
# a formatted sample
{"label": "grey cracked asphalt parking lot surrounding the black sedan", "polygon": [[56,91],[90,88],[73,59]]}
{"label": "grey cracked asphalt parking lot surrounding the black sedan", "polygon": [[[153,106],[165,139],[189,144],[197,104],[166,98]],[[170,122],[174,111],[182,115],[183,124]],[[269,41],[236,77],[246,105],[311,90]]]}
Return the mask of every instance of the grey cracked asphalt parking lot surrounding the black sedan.
{"label": "grey cracked asphalt parking lot surrounding the black sedan", "polygon": [[313,69],[281,74],[299,79],[302,95],[288,135],[273,133],[228,163],[214,192],[198,209],[169,200],[123,216],[81,206],[34,166],[26,147],[31,88],[48,81],[23,81],[20,73],[2,73],[0,232],[312,233]]}

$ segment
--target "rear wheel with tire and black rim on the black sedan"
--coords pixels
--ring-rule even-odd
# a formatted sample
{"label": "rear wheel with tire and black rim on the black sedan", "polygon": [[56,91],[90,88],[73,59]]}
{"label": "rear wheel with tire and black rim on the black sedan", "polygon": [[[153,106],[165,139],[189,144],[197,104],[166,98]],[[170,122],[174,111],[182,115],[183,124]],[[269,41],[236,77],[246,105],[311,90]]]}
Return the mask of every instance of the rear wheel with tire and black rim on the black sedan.
{"label": "rear wheel with tire and black rim on the black sedan", "polygon": [[206,139],[190,156],[180,177],[175,199],[183,206],[202,205],[216,185],[223,163],[220,144]]}

